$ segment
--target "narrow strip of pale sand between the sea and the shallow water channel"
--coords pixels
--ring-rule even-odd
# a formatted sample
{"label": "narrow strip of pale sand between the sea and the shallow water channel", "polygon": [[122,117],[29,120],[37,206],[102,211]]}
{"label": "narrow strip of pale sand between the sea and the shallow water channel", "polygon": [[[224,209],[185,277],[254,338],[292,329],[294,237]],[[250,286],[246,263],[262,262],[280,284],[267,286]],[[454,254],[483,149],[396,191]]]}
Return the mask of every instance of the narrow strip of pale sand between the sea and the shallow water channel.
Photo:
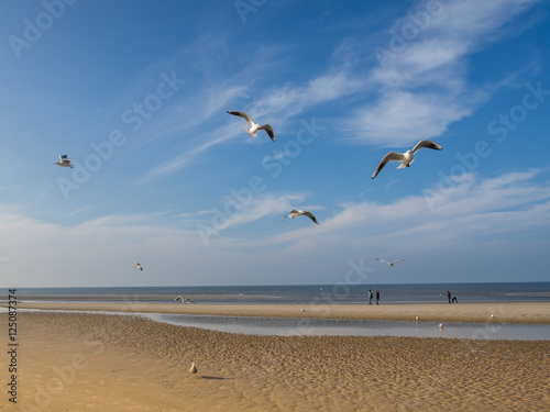
{"label": "narrow strip of pale sand between the sea and the shallow water channel", "polygon": [[[0,307],[7,308],[7,303]],[[88,303],[19,301],[18,309],[378,321],[550,324],[550,302],[498,303]]]}

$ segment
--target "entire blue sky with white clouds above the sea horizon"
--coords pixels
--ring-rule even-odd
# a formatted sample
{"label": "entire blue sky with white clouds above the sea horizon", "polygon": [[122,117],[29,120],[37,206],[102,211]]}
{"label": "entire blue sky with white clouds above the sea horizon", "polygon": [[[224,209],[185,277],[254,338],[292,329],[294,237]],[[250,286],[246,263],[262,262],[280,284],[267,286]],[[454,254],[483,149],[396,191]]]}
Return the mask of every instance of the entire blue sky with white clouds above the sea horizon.
{"label": "entire blue sky with white clouds above the sea horizon", "polygon": [[2,1],[1,283],[548,280],[549,12]]}

